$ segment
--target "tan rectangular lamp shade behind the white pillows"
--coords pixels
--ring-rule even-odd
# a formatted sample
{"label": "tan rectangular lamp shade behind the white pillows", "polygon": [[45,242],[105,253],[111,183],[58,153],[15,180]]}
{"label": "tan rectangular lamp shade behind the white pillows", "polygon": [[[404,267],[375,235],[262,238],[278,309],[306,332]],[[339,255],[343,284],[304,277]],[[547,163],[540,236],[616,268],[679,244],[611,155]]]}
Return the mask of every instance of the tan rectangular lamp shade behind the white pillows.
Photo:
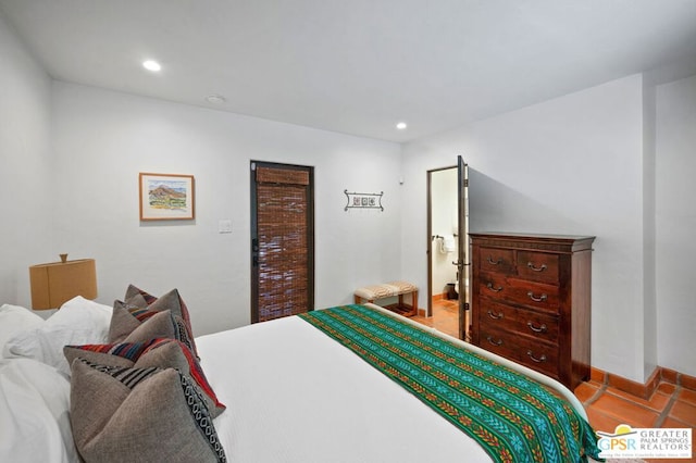
{"label": "tan rectangular lamp shade behind the white pillows", "polygon": [[53,262],[29,267],[32,308],[58,309],[76,296],[97,297],[97,267],[94,259]]}

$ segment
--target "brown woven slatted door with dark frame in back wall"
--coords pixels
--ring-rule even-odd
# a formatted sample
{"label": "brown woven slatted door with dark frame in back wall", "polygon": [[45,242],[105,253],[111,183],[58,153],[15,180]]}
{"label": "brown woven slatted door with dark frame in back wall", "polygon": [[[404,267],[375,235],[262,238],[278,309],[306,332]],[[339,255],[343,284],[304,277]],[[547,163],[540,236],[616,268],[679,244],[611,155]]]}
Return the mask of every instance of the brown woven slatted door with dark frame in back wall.
{"label": "brown woven slatted door with dark frame in back wall", "polygon": [[251,322],[314,309],[313,168],[251,162]]}

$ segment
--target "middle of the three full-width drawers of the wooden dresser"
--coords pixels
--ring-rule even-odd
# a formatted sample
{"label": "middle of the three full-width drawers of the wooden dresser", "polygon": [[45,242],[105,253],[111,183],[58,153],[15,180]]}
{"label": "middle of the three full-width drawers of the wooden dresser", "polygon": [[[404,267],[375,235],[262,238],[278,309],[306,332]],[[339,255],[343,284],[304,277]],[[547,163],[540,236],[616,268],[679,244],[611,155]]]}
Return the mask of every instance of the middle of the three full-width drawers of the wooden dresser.
{"label": "middle of the three full-width drawers of the wooden dresser", "polygon": [[504,329],[558,342],[558,317],[482,299],[478,323],[482,327]]}

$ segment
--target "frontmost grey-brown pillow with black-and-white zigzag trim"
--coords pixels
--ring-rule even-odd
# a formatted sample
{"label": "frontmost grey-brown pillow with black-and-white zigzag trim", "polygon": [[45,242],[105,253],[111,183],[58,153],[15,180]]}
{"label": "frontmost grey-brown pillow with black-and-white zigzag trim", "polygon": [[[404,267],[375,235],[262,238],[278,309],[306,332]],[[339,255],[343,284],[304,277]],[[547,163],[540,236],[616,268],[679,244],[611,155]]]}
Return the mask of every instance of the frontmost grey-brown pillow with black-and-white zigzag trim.
{"label": "frontmost grey-brown pillow with black-and-white zigzag trim", "polygon": [[208,406],[174,368],[75,360],[71,424],[85,462],[226,461]]}

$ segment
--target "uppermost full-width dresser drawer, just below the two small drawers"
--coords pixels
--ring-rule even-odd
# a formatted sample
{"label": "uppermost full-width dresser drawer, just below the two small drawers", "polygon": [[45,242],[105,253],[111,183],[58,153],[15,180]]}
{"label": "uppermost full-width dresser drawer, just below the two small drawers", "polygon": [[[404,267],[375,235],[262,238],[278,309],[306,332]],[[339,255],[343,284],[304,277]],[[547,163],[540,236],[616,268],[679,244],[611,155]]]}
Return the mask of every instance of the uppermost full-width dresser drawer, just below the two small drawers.
{"label": "uppermost full-width dresser drawer, just below the two small drawers", "polygon": [[478,278],[476,290],[485,298],[558,313],[558,286],[483,273]]}

